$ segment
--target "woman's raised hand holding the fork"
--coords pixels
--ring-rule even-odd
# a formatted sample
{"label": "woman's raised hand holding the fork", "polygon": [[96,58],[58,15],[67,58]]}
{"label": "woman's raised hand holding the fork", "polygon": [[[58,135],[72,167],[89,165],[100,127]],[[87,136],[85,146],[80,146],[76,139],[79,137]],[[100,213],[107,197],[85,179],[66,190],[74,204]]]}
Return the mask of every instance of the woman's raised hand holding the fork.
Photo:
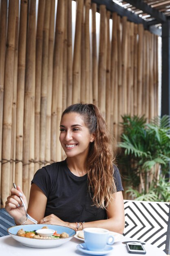
{"label": "woman's raised hand holding the fork", "polygon": [[20,196],[24,200],[27,209],[26,197],[20,186],[17,186],[17,189],[11,189],[11,195],[7,197],[7,201],[5,202],[5,209],[14,218],[15,223],[17,224],[21,224],[26,219]]}

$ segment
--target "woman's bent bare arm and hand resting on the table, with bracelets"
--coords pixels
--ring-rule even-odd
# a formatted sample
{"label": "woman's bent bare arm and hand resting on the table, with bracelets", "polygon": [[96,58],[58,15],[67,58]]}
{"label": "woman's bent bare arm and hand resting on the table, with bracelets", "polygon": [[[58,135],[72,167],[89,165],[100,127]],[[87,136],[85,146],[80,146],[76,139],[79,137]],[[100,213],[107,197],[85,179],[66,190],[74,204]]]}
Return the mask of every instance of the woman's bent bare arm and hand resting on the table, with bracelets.
{"label": "woman's bent bare arm and hand resting on the table, with bracelets", "polygon": [[[30,213],[31,214],[31,213]],[[124,200],[122,192],[119,191],[115,194],[115,197],[111,200],[108,209],[107,209],[107,220],[96,220],[92,222],[85,222],[79,227],[79,230],[82,230],[85,227],[100,227],[114,231],[120,234],[123,234],[124,231]],[[66,227],[71,227],[72,229],[76,228],[76,223],[64,222],[57,216],[51,214],[45,217],[45,222],[42,219],[40,223],[45,224],[54,224],[54,225],[63,225]]]}

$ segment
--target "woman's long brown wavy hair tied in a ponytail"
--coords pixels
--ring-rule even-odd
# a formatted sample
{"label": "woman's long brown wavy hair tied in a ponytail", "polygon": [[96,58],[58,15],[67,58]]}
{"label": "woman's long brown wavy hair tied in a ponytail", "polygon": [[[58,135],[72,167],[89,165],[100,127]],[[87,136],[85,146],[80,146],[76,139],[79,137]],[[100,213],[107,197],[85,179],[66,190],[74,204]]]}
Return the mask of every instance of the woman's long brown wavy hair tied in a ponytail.
{"label": "woman's long brown wavy hair tied in a ponytail", "polygon": [[86,163],[88,190],[94,205],[106,209],[116,192],[113,146],[106,121],[94,104],[73,104],[64,110],[62,117],[70,112],[81,115],[89,132],[95,135],[95,140],[90,143]]}

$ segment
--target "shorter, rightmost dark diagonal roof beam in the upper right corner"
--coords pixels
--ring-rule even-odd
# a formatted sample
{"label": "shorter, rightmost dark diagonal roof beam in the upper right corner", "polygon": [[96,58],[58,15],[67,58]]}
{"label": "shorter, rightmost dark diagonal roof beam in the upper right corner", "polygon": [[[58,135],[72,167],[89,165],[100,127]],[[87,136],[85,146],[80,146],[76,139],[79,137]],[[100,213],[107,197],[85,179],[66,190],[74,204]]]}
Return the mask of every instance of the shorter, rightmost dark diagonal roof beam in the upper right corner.
{"label": "shorter, rightmost dark diagonal roof beam in the upper right corner", "polygon": [[150,16],[154,17],[157,20],[157,23],[164,23],[166,22],[166,16],[158,11],[155,8],[150,7],[148,4],[146,4],[144,1],[141,0],[126,0],[129,4],[132,4],[133,6],[137,7],[138,9],[144,11],[144,13],[150,14]]}

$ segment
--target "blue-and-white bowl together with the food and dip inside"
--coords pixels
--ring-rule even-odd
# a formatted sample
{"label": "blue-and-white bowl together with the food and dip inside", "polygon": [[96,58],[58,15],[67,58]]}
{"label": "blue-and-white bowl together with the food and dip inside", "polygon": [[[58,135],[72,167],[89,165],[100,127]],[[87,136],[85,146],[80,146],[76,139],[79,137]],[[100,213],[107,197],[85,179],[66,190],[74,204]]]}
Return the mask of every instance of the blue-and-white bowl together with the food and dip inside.
{"label": "blue-and-white bowl together with the food and dip inside", "polygon": [[58,247],[73,238],[74,229],[59,225],[28,224],[10,227],[9,235],[22,245],[34,248]]}

